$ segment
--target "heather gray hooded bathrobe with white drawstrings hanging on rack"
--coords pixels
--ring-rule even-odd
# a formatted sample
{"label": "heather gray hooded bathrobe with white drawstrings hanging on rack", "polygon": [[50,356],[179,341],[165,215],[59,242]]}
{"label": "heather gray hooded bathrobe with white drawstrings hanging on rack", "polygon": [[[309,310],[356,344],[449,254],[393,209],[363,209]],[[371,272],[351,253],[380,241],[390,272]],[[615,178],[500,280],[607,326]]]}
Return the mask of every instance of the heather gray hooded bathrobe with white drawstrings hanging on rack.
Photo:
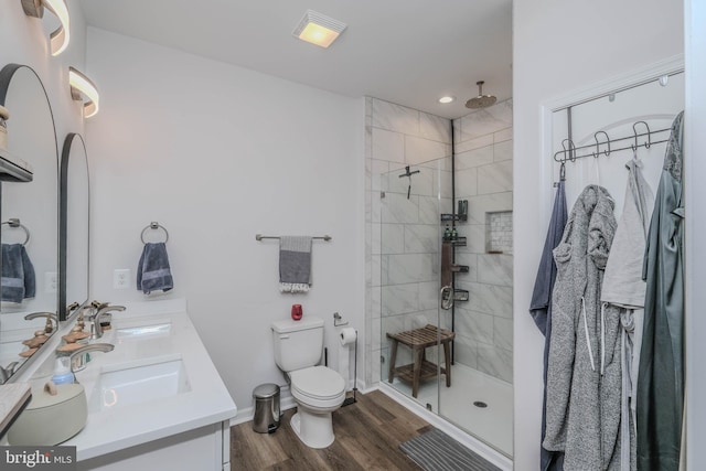
{"label": "heather gray hooded bathrobe with white drawstrings hanging on rack", "polygon": [[567,471],[618,469],[620,461],[620,355],[613,358],[619,351],[620,320],[617,310],[602,313],[600,302],[616,233],[613,205],[606,189],[587,186],[554,250],[557,278],[543,445],[547,450],[565,451]]}

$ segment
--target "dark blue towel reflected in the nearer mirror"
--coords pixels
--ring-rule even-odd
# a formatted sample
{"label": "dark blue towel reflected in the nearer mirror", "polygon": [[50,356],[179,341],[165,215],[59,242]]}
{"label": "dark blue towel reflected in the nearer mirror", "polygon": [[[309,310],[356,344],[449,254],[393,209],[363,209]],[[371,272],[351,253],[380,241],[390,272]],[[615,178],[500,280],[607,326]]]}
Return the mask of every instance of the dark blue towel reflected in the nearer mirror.
{"label": "dark blue towel reflected in the nearer mirror", "polygon": [[36,292],[34,267],[22,244],[2,244],[1,287],[3,301],[19,303]]}

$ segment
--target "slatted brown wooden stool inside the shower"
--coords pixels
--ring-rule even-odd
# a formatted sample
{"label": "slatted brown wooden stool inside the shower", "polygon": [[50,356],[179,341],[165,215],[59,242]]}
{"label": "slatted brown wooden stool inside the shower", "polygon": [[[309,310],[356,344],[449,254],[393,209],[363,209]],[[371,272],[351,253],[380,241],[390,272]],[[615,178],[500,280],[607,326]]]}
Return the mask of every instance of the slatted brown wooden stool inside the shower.
{"label": "slatted brown wooden stool inside the shower", "polygon": [[[446,375],[446,387],[451,386],[451,347],[449,344],[454,336],[456,333],[446,329],[437,329],[436,325],[431,324],[405,332],[388,332],[387,338],[393,341],[393,344],[391,346],[389,376],[387,381],[392,383],[395,375],[397,375],[400,379],[411,382],[411,396],[417,397],[419,381],[436,376],[438,370],[437,365],[426,358],[426,349],[440,342],[443,344],[443,361],[446,365],[440,371]],[[414,363],[395,367],[397,344],[399,343],[411,349]]]}

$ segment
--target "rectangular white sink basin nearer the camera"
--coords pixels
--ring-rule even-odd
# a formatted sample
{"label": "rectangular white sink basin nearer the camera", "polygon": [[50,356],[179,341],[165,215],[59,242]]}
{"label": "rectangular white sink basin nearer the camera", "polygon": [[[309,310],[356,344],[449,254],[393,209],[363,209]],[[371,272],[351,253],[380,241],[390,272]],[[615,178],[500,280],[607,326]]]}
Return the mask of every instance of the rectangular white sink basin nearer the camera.
{"label": "rectangular white sink basin nearer the camera", "polygon": [[149,403],[191,390],[181,356],[149,364],[105,366],[88,400],[88,411]]}

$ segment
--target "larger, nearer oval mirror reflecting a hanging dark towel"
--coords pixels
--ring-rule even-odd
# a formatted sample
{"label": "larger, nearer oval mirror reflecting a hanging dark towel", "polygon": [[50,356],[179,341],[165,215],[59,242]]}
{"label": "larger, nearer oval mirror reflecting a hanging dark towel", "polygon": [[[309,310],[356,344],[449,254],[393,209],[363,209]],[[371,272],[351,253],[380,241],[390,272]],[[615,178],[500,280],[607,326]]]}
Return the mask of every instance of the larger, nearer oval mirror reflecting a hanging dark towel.
{"label": "larger, nearer oval mirror reflecting a hanging dark towel", "polygon": [[[49,336],[35,335],[45,330],[45,315],[57,314],[58,147],[46,89],[34,69],[8,64],[0,71],[0,105],[10,114],[7,152],[32,167],[30,182],[0,175],[0,379],[7,381]],[[25,319],[35,312],[45,314]]]}

